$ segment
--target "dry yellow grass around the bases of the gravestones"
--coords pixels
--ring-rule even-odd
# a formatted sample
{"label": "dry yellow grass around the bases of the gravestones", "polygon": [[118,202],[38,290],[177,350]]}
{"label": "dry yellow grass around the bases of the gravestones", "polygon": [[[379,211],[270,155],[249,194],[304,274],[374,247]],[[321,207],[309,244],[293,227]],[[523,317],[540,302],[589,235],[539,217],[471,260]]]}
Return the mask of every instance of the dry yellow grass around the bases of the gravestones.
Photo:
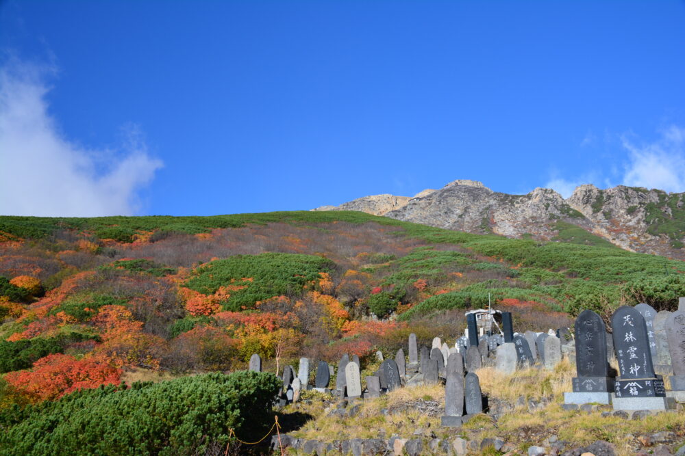
{"label": "dry yellow grass around the bases of the gravestones", "polygon": [[[336,403],[316,392],[304,392],[303,402],[288,405],[284,412],[308,413],[314,417],[292,435],[328,442],[351,438],[390,438],[393,435],[411,439],[418,437],[414,431],[422,429],[424,436],[434,433],[443,439],[462,436],[469,440],[482,440],[497,436],[519,444],[519,451],[523,453],[527,446],[541,445],[552,435],[569,442],[569,448],[606,440],[616,445],[619,455],[630,455],[634,454],[630,445],[640,435],[659,431],[673,431],[681,437],[685,435],[685,411],[682,410],[647,416],[643,420],[614,416],[602,418],[601,411],[563,410],[563,393],[571,391],[571,378],[575,375],[575,366],[565,358],[554,371],[529,368],[514,375],[503,375],[494,368],[482,368],[477,374],[482,391],[490,399],[516,403],[522,396],[526,399],[546,397],[550,403],[534,412],[529,412],[527,406],[519,406],[497,422],[486,414],[479,415],[462,429],[440,426],[445,403],[445,388],[440,385],[401,388],[377,399],[351,403],[347,410],[360,405],[353,418],[329,416]],[[437,411],[435,403],[438,404]],[[385,413],[382,412],[384,410]],[[610,407],[607,410],[611,410]]]}

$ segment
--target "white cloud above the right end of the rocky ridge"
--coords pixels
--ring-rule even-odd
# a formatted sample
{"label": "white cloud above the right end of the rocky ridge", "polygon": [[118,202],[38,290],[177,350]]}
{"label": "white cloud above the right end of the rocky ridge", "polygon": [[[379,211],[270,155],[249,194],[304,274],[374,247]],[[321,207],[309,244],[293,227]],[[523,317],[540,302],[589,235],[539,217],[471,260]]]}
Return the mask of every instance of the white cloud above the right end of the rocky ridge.
{"label": "white cloud above the right end of the rocky ridge", "polygon": [[660,139],[636,145],[626,136],[623,147],[630,152],[623,184],[665,191],[685,191],[685,129],[670,126]]}

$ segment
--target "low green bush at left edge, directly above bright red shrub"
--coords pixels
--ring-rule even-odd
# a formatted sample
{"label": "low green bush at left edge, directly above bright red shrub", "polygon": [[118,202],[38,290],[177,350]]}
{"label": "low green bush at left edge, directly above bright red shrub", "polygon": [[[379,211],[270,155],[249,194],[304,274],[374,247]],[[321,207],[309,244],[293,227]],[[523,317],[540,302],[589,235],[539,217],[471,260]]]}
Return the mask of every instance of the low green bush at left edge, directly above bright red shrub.
{"label": "low green bush at left edge, directly above bright red shrub", "polygon": [[69,332],[51,338],[36,337],[16,342],[0,340],[0,373],[29,368],[44,356],[63,353],[64,347],[69,344],[95,338],[97,337]]}

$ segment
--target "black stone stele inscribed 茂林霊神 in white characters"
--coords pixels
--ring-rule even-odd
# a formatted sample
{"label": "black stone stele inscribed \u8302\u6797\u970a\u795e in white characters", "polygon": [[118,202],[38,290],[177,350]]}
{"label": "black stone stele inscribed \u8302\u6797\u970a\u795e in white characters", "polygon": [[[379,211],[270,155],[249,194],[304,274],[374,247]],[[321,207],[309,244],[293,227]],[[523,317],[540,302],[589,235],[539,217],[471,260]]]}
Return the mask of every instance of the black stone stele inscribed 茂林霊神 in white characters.
{"label": "black stone stele inscribed \u8302\u6797\u970a\u795e in white characters", "polygon": [[664,381],[654,375],[645,319],[638,310],[621,306],[611,317],[619,373],[616,397],[665,397]]}

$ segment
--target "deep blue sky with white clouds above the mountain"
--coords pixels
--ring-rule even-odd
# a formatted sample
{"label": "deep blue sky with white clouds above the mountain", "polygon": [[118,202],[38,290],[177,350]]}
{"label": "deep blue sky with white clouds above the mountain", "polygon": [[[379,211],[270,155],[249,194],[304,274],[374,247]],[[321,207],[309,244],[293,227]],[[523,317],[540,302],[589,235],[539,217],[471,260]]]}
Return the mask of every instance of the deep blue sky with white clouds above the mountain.
{"label": "deep blue sky with white clouds above the mountain", "polygon": [[1,1],[0,213],[685,191],[684,1]]}

